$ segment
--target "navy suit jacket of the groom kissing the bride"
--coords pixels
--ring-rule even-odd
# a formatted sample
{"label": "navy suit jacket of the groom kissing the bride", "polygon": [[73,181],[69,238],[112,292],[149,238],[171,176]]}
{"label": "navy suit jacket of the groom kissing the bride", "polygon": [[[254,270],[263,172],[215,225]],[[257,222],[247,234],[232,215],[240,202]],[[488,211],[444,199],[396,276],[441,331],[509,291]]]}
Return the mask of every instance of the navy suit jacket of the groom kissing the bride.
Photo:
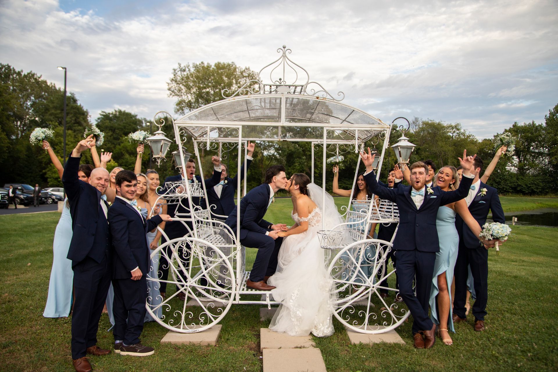
{"label": "navy suit jacket of the groom kissing the bride", "polygon": [[[270,202],[270,194],[270,185],[263,183],[248,191],[240,200],[240,239],[246,238],[248,231],[259,234],[270,231],[268,227],[271,223],[263,219]],[[230,212],[225,224],[229,225],[235,234],[237,233],[237,208]]]}

